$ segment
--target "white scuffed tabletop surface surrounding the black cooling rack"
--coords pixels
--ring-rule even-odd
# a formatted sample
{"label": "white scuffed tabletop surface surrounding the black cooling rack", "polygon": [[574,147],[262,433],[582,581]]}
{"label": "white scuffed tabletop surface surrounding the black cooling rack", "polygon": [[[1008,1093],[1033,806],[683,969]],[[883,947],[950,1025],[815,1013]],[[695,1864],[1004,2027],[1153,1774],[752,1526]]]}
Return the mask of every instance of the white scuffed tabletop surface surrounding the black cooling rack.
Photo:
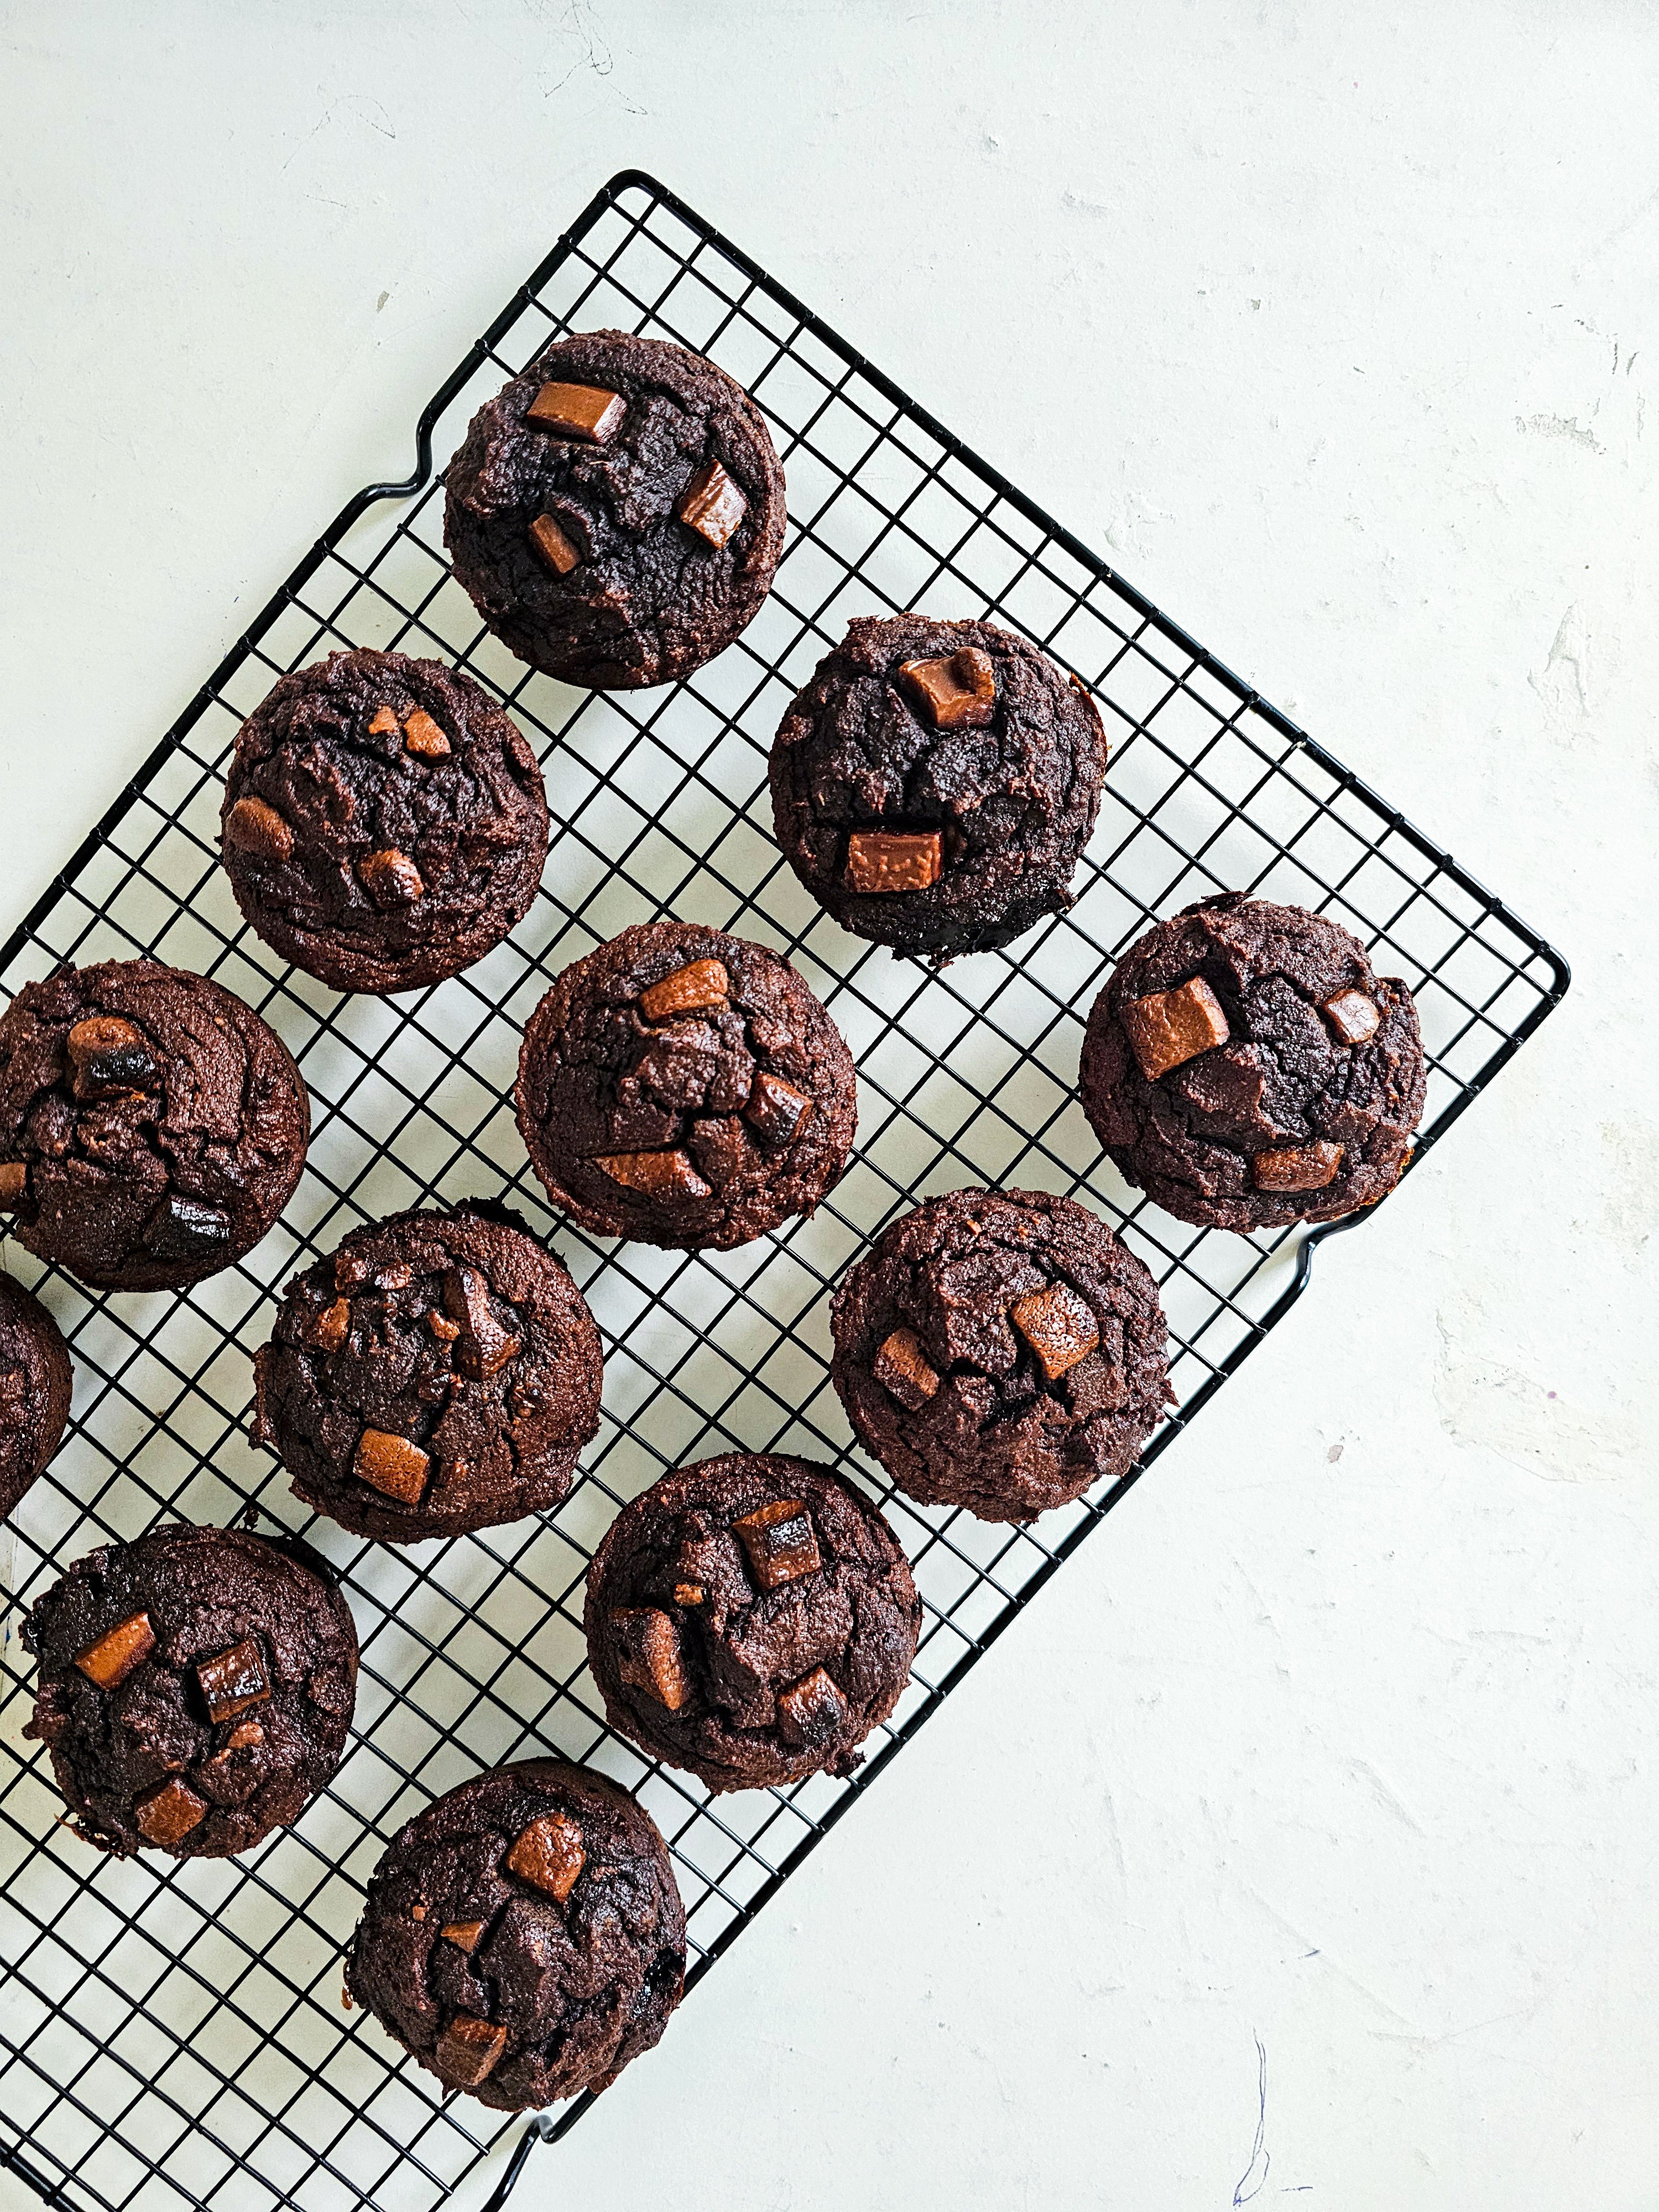
{"label": "white scuffed tabletop surface surrounding the black cooling rack", "polygon": [[1648,0],[2,0],[7,927],[639,164],[1577,969],[526,2205],[1659,2205],[1657,91]]}

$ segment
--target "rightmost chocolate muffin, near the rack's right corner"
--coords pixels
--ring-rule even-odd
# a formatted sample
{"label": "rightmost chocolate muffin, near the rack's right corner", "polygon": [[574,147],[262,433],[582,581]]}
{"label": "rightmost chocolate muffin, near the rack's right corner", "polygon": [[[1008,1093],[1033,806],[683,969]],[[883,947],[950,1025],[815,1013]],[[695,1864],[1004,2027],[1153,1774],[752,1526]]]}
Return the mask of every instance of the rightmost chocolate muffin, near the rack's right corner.
{"label": "rightmost chocolate muffin, near the rack's right corner", "polygon": [[1394,1190],[1411,1155],[1418,1009],[1338,922],[1223,891],[1117,962],[1079,1084],[1117,1168],[1179,1221],[1332,1221]]}

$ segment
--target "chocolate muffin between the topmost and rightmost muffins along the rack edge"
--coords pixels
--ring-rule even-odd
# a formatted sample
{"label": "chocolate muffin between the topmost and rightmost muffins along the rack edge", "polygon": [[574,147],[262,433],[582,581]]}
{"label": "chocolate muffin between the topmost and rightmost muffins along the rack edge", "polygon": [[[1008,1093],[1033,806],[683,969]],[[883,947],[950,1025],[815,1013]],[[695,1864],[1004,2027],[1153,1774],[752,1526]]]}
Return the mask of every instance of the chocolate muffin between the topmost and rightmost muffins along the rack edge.
{"label": "chocolate muffin between the topmost and rightmost muffins along the rack edge", "polygon": [[1095,701],[989,622],[854,622],[772,743],[790,867],[858,938],[942,967],[1071,905],[1099,810]]}

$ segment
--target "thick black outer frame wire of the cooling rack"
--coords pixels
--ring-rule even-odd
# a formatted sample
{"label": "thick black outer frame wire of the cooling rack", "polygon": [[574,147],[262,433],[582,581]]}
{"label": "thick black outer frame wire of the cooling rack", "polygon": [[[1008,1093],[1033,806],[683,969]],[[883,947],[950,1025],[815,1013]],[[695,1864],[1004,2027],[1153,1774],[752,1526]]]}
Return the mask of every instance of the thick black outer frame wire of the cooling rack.
{"label": "thick black outer frame wire of the cooling rack", "polygon": [[[593,199],[586,204],[582,215],[560,232],[555,246],[535,265],[535,270],[524,279],[524,283],[511,294],[500,314],[489,323],[489,327],[473,341],[473,345],[462,354],[449,376],[438,385],[434,396],[420,409],[416,420],[416,456],[414,469],[407,478],[396,482],[365,484],[356,491],[345,507],[334,515],[323,535],[312,544],[290,575],[276,586],[270,599],[254,615],[250,626],[234,639],[226,655],[215,666],[212,675],[201,684],[195,697],[188,701],[184,712],[170,723],[166,734],[157,741],[150,754],[139,763],[133,776],[126,781],[117,799],[104,810],[95,827],[82,838],[69,860],[58,869],[51,883],[35,898],[33,907],[24,914],[18,927],[7,938],[0,949],[0,967],[9,967],[18,953],[27,947],[40,925],[51,914],[58,898],[62,898],[80,869],[106,845],[113,832],[119,827],[128,810],[137,803],[144,785],[155,776],[170,752],[184,741],[184,737],[195,728],[201,714],[212,706],[215,695],[234,675],[241,661],[257,648],[259,639],[272,628],[272,624],[294,604],[296,593],[310,582],[310,577],[321,568],[330,553],[338,546],[341,538],[352,529],[358,518],[374,507],[378,500],[403,500],[414,498],[416,491],[431,478],[431,434],[442,416],[445,407],[465,387],[467,378],[480,367],[495,341],[509,330],[518,314],[533,303],[535,292],[546,283],[546,279],[560,268],[566,254],[588,234],[597,219],[628,190],[646,192],[657,206],[668,208],[679,221],[688,226],[706,246],[717,248],[737,268],[741,268],[757,285],[761,285],[770,296],[785,307],[801,325],[823,345],[827,345],[849,369],[860,374],[874,385],[883,398],[894,407],[902,409],[914,422],[918,422],[929,438],[936,438],[956,460],[973,469],[973,473],[989,484],[998,498],[1015,507],[1026,522],[1044,531],[1057,546],[1077,560],[1091,575],[1102,584],[1108,584],[1119,593],[1146,622],[1150,622],[1161,637],[1186,653],[1197,668],[1203,668],[1217,684],[1234,695],[1241,708],[1250,708],[1261,714],[1281,737],[1290,739],[1294,745],[1303,748],[1318,765],[1336,779],[1338,787],[1356,796],[1360,803],[1369,805],[1398,836],[1407,838],[1418,854],[1429,860],[1436,869],[1444,872],[1460,889],[1471,898],[1480,900],[1486,916],[1500,920],[1506,929],[1515,933],[1528,951],[1544,960],[1551,971],[1551,984],[1542,993],[1540,1004],[1520,1022],[1520,1026],[1493,1051],[1480,1073],[1464,1086],[1460,1095],[1444,1108],[1438,1117],[1433,1130],[1418,1144],[1413,1155],[1420,1157],[1431,1144],[1451,1128],[1451,1124],[1467,1110],[1467,1106],[1480,1097],[1480,1093],[1493,1082],[1493,1077],[1515,1057],[1520,1046],[1540,1029],[1540,1024],[1559,1006],[1566,995],[1573,971],[1564,956],[1535,929],[1520,920],[1520,916],[1493,891],[1486,889],[1469,869],[1460,867],[1458,860],[1433,838],[1425,836],[1416,823],[1407,821],[1398,807],[1389,807],[1378,799],[1378,794],[1349,768],[1345,768],[1334,754],[1329,754],[1314,737],[1310,737],[1298,723],[1290,721],[1276,706],[1261,697],[1243,677],[1234,675],[1225,661],[1208,653],[1194,637],[1190,637],[1177,622],[1170,622],[1144,593],[1135,591],[1115,568],[1099,560],[1079,538],[1055,522],[1035,500],[1031,500],[1018,484],[1013,484],[1000,469],[993,469],[982,460],[969,445],[964,445],[953,431],[949,431],[936,416],[920,407],[900,385],[876,369],[854,345],[849,345],[836,330],[832,330],[821,316],[816,316],[803,301],[799,301],[785,285],[776,283],[750,254],[734,246],[723,232],[708,223],[695,208],[690,208],[677,192],[670,192],[664,184],[650,177],[641,168],[617,170],[615,177],[604,184]],[[1409,1168],[1407,1168],[1409,1172]],[[1296,1272],[1279,1298],[1267,1307],[1261,1321],[1250,1329],[1250,1334],[1217,1365],[1214,1374],[1201,1385],[1199,1391],[1179,1409],[1159,1436],[1148,1444],[1144,1458],[1130,1469],[1130,1473],[1108,1493],[1097,1511],[1077,1524],[1073,1533],[1055,1546],[1053,1555],[1040,1566],[1031,1579],[1020,1590],[1018,1599],[980,1635],[978,1644],[969,1648],[949,1677],[927,1694],[927,1699],[916,1708],[916,1712],[905,1721],[905,1725],[889,1739],[889,1743],[869,1761],[869,1765],[854,1778],[852,1787],[836,1798],[834,1805],[816,1820],[816,1825],[801,1838],[801,1843],[783,1858],[776,1874],[754,1893],[741,1918],[732,1920],[714,1942],[708,1947],[688,1986],[699,1982],[708,1969],[723,1958],[726,1951],[737,1942],[743,1929],[754,1920],[763,1905],[783,1887],[783,1882],[794,1874],[794,1869],[807,1858],[812,1849],[836,1827],[843,1814],[863,1798],[878,1774],[887,1770],[894,1756],[905,1743],[916,1734],[916,1730],[931,1719],[933,1710],[956,1690],[964,1679],[969,1668],[995,1644],[1002,1630],[1015,1619],[1026,1604],[1037,1595],[1040,1588],[1057,1573],[1057,1568],[1077,1551],[1077,1546],[1088,1537],[1106,1513],[1139,1482],[1141,1473],[1152,1464],[1152,1460],[1164,1451],[1164,1447],[1179,1436],[1188,1422],[1208,1405],[1208,1400],[1221,1389],[1221,1385],[1237,1374],[1243,1360],[1256,1349],[1256,1345],[1267,1336],[1272,1327],[1290,1312],[1290,1307],[1301,1298],[1312,1281],[1314,1254],[1318,1245],[1343,1230],[1358,1228],[1369,1214],[1347,1214],[1340,1221],[1327,1221],[1310,1230],[1301,1241],[1296,1252]],[[595,2101],[595,2093],[588,2090],[553,2119],[542,2112],[529,2121],[522,2130],[518,2143],[513,2146],[507,2170],[498,2181],[491,2197],[484,2201],[480,2212],[502,2212],[502,2205],[513,2194],[518,2181],[522,2179],[529,2152],[535,2143],[557,2143],[568,2130],[582,2119],[588,2106]],[[0,2126],[7,2126],[0,2117]],[[33,2159],[27,2154],[27,2137],[18,2137],[15,2143],[0,2141],[0,2166],[24,2181],[44,2203],[69,2205],[66,2194],[69,2177],[64,2181],[53,2181],[42,2174]]]}

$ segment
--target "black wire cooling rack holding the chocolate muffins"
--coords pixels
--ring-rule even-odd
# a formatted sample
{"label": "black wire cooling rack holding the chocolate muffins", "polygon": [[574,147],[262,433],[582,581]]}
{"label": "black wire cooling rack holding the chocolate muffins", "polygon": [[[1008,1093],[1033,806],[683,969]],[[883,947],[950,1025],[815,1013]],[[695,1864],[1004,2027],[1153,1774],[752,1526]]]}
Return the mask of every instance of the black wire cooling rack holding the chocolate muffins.
{"label": "black wire cooling rack holding the chocolate muffins", "polygon": [[[442,553],[447,453],[500,383],[566,330],[677,338],[743,383],[783,453],[790,540],[743,639],[664,692],[588,695],[480,630]],[[772,843],[765,757],[783,706],[863,613],[991,615],[1095,692],[1113,737],[1077,905],[942,975],[843,936]],[[467,666],[540,743],[555,843],[513,938],[434,991],[336,998],[241,925],[215,865],[219,785],[274,679],[336,646]],[[281,1225],[188,1296],[91,1296],[46,1270],[75,1354],[73,1427],[0,1535],[0,2161],[55,2205],[414,2212],[513,2121],[438,2084],[341,2008],[341,1947],[394,1829],[482,1765],[544,1750],[633,1787],[688,1907],[690,1980],[741,1933],[973,1659],[1124,1495],[1029,1531],[911,1506],[849,1440],[827,1383],[830,1290],[918,1197],[960,1183],[1079,1192],[1161,1283],[1179,1411],[1148,1462],[1261,1343],[1323,1232],[1192,1232],[1139,1201],[1075,1104],[1091,1000],[1152,916],[1214,889],[1318,907],[1407,978],[1431,1053],[1420,1150],[1562,998],[1564,962],[1447,854],[1119,582],[1002,476],[650,177],[615,177],[449,376],[407,484],[341,513],[215,670],[0,956],[7,995],[60,960],[153,953],[217,975],[290,1044],[316,1128]],[[675,914],[785,951],[858,1062],[856,1157],[812,1221],[737,1252],[588,1241],[549,1214],[511,1110],[520,1029],[553,975]],[[246,1442],[272,1296],[358,1221],[507,1194],[553,1237],[606,1345],[604,1425],[544,1520],[394,1551],[303,1513]],[[20,1279],[42,1270],[15,1248]],[[582,1579],[619,1500],[730,1447],[849,1467],[925,1599],[911,1688],[849,1783],[708,1801],[602,1721]],[[363,1637],[356,1732],[301,1823],[241,1860],[108,1860],[60,1825],[22,1743],[27,1604],[93,1544],[250,1500],[345,1577]],[[672,2066],[666,2053],[646,2066]],[[533,2141],[586,2099],[522,2132]]]}

